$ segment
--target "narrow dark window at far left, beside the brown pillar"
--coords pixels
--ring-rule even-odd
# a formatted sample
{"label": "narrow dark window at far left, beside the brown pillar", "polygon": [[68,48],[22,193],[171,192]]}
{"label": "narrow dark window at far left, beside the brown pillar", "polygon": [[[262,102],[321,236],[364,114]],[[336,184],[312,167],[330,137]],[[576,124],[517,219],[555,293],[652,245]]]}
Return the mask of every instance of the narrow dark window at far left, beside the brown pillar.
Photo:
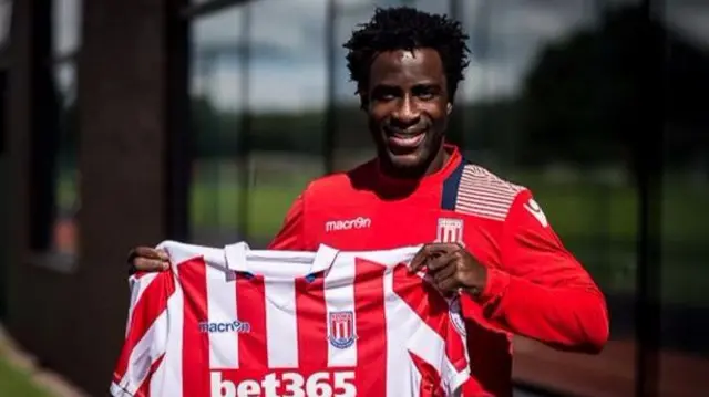
{"label": "narrow dark window at far left, beside the brown pillar", "polygon": [[[45,14],[43,14],[43,12]],[[42,66],[32,79],[33,105],[31,248],[37,264],[71,271],[79,250],[80,209],[76,123],[76,64],[80,48],[80,0],[53,0],[38,12],[35,44],[49,38]],[[44,21],[51,21],[49,29]],[[50,258],[44,260],[44,257]]]}

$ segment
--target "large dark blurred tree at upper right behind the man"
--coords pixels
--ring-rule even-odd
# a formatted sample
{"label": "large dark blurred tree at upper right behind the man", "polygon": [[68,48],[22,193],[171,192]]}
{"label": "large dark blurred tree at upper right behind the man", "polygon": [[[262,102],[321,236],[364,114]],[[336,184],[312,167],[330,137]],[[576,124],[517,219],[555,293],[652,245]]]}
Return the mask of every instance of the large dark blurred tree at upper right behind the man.
{"label": "large dark blurred tree at upper right behind the man", "polygon": [[[648,56],[649,38],[660,38],[662,65]],[[662,67],[665,81],[648,81]],[[699,100],[709,88],[709,56],[691,42],[648,20],[639,8],[606,13],[597,29],[549,44],[525,79],[521,138],[526,163],[557,158],[580,164],[628,160],[644,139],[645,95],[666,98],[671,156],[678,165],[707,149],[709,117]],[[669,100],[669,101],[667,101]]]}

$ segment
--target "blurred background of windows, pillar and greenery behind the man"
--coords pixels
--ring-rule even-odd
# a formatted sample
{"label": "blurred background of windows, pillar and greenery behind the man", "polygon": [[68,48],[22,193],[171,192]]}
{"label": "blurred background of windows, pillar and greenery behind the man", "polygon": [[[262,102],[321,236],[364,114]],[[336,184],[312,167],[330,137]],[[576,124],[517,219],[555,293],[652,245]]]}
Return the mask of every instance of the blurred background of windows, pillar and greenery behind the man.
{"label": "blurred background of windows, pillar and greenery behind the man", "polygon": [[34,363],[0,343],[0,395],[41,369],[105,395],[131,247],[264,247],[309,179],[372,156],[341,44],[404,3],[470,34],[451,140],[607,294],[600,355],[516,341],[521,390],[709,395],[700,0],[0,0],[0,322]]}

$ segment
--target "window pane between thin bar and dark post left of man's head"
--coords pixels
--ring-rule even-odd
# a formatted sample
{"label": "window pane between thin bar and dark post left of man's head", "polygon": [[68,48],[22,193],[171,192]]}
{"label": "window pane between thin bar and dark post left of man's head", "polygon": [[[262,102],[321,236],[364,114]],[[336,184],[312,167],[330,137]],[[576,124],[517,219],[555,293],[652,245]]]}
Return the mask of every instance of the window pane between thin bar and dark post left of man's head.
{"label": "window pane between thin bar and dark post left of man's head", "polygon": [[327,128],[327,0],[261,0],[250,8],[249,239],[278,231],[292,200],[321,176]]}

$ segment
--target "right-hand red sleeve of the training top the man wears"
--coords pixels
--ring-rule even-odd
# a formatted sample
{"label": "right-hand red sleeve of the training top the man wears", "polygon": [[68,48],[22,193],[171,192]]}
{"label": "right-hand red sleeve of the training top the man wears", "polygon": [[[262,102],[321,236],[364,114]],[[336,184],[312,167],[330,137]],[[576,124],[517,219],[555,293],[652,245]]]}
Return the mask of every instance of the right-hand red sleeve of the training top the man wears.
{"label": "right-hand red sleeve of the training top the man wears", "polygon": [[528,190],[515,198],[489,268],[483,312],[511,332],[557,348],[598,352],[608,339],[603,293],[562,244]]}

